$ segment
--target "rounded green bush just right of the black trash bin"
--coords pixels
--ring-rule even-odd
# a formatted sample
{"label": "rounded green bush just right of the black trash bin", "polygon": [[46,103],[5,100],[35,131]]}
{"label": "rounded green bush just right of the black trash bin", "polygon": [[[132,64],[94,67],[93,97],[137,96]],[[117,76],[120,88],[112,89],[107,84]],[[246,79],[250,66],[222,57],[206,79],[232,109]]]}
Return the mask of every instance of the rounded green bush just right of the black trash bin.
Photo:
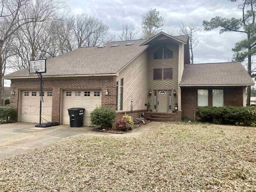
{"label": "rounded green bush just right of the black trash bin", "polygon": [[90,121],[92,126],[112,127],[116,111],[112,108],[96,107],[90,112]]}

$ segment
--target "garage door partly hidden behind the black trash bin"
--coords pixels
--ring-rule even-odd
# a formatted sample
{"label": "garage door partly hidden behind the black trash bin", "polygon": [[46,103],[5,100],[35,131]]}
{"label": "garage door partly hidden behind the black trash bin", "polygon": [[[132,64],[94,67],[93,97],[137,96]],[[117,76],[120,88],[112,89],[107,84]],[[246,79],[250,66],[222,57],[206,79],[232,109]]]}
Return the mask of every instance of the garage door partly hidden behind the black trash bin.
{"label": "garage door partly hidden behind the black trash bin", "polygon": [[90,125],[90,112],[101,105],[100,90],[64,90],[62,124],[69,125],[69,108],[84,108],[84,121],[86,126]]}

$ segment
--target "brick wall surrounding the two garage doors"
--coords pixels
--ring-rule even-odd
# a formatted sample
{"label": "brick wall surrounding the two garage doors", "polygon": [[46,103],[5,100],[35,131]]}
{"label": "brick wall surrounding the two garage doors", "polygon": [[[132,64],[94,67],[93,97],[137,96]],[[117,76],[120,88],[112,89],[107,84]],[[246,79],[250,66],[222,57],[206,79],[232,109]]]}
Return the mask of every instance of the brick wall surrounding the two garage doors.
{"label": "brick wall surrounding the two garage doors", "polygon": [[[97,89],[102,91],[101,104],[104,107],[116,108],[116,77],[104,76],[98,78],[84,77],[76,79],[49,79],[44,78],[44,90],[52,90],[52,122],[60,122],[60,97],[61,90],[84,90]],[[10,106],[18,111],[19,105],[19,90],[40,90],[39,78],[12,80],[11,89],[15,91],[14,95],[10,96]],[[104,94],[108,90],[108,96]],[[16,118],[16,121],[18,117]]]}

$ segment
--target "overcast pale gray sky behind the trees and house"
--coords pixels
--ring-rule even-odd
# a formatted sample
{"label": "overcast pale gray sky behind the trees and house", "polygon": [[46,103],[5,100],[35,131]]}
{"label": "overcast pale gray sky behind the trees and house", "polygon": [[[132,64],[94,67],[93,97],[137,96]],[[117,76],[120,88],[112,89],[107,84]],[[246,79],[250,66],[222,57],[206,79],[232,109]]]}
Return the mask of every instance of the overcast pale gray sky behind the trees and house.
{"label": "overcast pale gray sky behind the trees and house", "polygon": [[[237,3],[228,0],[70,0],[73,14],[85,12],[100,18],[110,32],[120,34],[122,23],[132,24],[140,30],[141,16],[151,8],[165,19],[163,31],[178,34],[181,21],[202,25],[203,20],[215,16],[240,18]],[[219,29],[200,31],[200,43],[194,48],[194,63],[231,61],[232,48],[243,36],[238,32],[219,34]]]}

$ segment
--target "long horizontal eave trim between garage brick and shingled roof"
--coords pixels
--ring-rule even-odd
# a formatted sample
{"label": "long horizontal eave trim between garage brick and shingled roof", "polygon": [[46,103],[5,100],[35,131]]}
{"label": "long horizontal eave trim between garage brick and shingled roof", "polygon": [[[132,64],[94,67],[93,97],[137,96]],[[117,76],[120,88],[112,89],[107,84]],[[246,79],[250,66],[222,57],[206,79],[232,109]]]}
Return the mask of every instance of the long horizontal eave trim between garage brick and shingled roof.
{"label": "long horizontal eave trim between garage brick and shingled roof", "polygon": [[[56,77],[98,77],[98,76],[116,76],[116,73],[108,74],[83,74],[83,75],[43,75],[43,78],[56,78]],[[38,78],[38,76],[23,76],[23,77],[2,77],[3,79],[28,79]]]}

